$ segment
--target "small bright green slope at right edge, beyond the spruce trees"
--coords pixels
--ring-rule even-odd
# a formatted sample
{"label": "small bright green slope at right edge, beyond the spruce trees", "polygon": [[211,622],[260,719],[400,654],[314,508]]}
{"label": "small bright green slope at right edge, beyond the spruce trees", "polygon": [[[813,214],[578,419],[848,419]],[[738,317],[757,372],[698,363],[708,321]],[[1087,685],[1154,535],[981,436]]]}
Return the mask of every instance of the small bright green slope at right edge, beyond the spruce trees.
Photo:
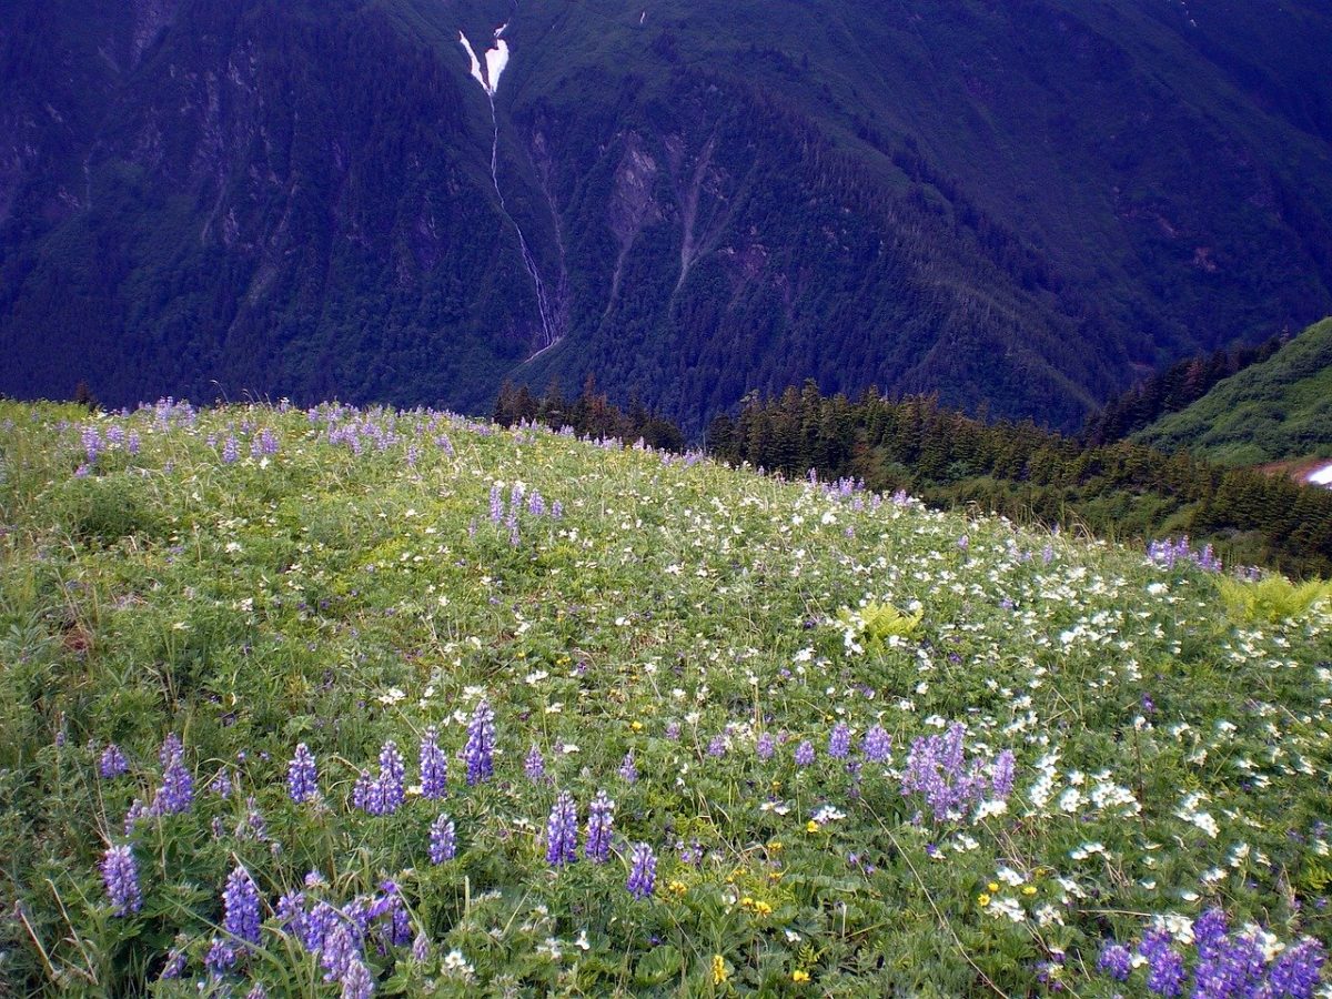
{"label": "small bright green slope at right edge, beyond the spruce trees", "polygon": [[1332,457],[1332,320],[1134,440],[1223,465]]}

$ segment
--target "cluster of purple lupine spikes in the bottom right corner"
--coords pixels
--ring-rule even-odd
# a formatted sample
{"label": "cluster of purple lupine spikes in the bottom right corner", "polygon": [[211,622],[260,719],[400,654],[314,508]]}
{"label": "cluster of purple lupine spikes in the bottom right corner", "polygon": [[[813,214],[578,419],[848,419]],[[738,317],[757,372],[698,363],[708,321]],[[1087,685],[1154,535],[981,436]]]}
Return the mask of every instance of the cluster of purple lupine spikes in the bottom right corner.
{"label": "cluster of purple lupine spikes in the bottom right corner", "polygon": [[[1147,988],[1156,995],[1184,995],[1189,984],[1185,958],[1164,930],[1147,930],[1136,951],[1146,967]],[[1320,982],[1327,954],[1312,938],[1288,946],[1268,960],[1263,943],[1253,934],[1227,931],[1225,914],[1219,908],[1193,922],[1195,960],[1192,988],[1196,999],[1309,999]],[[1118,982],[1134,971],[1134,955],[1114,940],[1100,951],[1096,967]]]}

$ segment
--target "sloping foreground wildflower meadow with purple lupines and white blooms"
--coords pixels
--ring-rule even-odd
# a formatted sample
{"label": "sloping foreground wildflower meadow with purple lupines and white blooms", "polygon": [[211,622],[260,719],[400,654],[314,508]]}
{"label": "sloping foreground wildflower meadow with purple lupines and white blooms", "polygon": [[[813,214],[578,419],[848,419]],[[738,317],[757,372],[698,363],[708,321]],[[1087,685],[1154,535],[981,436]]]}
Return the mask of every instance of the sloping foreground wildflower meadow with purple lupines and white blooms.
{"label": "sloping foreground wildflower meadow with purple lupines and white blooms", "polygon": [[19,994],[1319,987],[1323,586],[429,412],[0,460]]}

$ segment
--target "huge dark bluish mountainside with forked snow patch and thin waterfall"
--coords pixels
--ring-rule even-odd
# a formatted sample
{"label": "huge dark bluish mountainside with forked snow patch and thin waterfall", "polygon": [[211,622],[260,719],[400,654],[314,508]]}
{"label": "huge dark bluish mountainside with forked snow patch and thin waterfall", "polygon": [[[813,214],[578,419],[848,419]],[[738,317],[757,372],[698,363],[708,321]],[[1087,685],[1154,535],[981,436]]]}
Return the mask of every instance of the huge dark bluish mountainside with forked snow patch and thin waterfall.
{"label": "huge dark bluish mountainside with forked snow patch and thin waterfall", "polygon": [[1072,428],[1332,312],[1312,0],[0,15],[11,394],[590,374],[697,432],[814,378]]}

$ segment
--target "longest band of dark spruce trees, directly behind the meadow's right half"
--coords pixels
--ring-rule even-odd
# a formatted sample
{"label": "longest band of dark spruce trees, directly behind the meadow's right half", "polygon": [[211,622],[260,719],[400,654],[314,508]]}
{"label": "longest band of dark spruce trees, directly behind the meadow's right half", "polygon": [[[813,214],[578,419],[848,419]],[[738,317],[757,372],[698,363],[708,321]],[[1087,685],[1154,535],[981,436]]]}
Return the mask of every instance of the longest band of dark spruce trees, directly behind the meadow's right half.
{"label": "longest band of dark spruce trees, directly behind the meadow's right half", "polygon": [[707,444],[719,460],[790,477],[815,469],[1126,539],[1187,533],[1232,563],[1332,574],[1332,492],[1124,441],[1086,445],[1030,421],[984,424],[934,397],[892,401],[871,389],[852,402],[809,382],[750,396],[737,418],[713,421]]}

